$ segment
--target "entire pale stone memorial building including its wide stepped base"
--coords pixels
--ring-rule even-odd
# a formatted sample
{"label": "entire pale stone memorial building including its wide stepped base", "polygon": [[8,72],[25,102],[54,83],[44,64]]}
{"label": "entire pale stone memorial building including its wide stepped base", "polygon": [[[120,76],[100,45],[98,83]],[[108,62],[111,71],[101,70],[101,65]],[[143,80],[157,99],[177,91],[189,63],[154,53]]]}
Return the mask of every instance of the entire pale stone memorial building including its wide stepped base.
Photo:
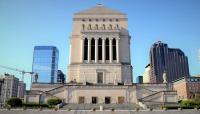
{"label": "entire pale stone memorial building including its wide stepped base", "polygon": [[[66,84],[32,83],[25,102],[58,97],[69,104],[176,104],[167,84],[132,83],[127,16],[97,5],[76,13],[70,37]],[[126,106],[128,106],[126,105]],[[91,105],[93,106],[93,105]]]}

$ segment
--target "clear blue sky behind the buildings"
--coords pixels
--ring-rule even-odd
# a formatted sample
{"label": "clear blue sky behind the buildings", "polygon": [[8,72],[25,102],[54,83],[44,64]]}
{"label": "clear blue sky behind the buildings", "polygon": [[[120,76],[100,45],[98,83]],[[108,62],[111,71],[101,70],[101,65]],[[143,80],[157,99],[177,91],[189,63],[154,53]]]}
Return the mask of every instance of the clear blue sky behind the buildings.
{"label": "clear blue sky behind the buildings", "polygon": [[[190,74],[200,73],[200,0],[0,0],[0,65],[31,71],[34,46],[54,45],[66,73],[73,14],[98,3],[128,15],[134,81],[158,40],[184,51]],[[25,81],[29,88],[29,75]]]}

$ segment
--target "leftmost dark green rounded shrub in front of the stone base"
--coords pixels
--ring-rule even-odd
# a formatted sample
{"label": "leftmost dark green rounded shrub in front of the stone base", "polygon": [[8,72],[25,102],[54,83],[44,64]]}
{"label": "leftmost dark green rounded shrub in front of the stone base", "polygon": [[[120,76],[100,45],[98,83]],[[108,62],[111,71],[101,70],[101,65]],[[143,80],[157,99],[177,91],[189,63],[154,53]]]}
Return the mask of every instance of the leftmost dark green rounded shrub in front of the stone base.
{"label": "leftmost dark green rounded shrub in front of the stone base", "polygon": [[10,98],[6,101],[6,104],[11,107],[18,107],[22,106],[22,100],[20,98]]}

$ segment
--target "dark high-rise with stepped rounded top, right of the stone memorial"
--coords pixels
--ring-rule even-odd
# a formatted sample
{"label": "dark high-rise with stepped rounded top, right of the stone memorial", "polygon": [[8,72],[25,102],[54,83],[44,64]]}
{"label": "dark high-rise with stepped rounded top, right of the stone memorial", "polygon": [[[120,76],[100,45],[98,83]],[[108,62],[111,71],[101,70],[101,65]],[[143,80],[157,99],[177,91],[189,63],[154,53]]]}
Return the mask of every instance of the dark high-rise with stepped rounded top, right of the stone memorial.
{"label": "dark high-rise with stepped rounded top, right of the stone memorial", "polygon": [[150,67],[150,83],[163,83],[164,71],[166,71],[168,82],[189,77],[187,56],[180,49],[168,48],[167,44],[160,41],[151,47]]}

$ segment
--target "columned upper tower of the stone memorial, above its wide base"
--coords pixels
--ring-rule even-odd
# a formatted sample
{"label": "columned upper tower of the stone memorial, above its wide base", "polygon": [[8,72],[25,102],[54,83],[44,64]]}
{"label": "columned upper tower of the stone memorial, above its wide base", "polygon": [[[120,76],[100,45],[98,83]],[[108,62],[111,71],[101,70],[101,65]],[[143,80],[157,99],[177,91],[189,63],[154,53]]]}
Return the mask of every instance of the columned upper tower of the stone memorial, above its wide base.
{"label": "columned upper tower of the stone memorial, above its wide base", "polygon": [[78,12],[70,37],[68,81],[132,82],[127,16],[98,4]]}

